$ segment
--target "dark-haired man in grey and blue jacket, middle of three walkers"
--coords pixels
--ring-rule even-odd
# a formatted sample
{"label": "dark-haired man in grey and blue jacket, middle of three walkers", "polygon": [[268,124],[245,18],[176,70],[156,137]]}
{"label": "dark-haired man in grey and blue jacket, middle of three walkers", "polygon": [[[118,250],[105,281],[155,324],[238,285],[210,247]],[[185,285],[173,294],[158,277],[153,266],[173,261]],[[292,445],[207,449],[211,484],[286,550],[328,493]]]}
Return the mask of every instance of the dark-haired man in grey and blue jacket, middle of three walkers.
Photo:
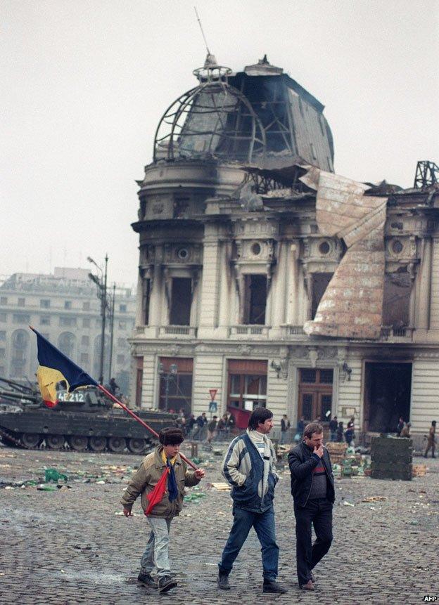
{"label": "dark-haired man in grey and blue jacket, middle of three walkers", "polygon": [[274,486],[276,455],[268,438],[273,427],[273,414],[256,408],[248,421],[245,434],[234,439],[224,458],[222,472],[232,486],[234,523],[218,565],[218,587],[229,590],[229,573],[250,529],[255,528],[262,547],[263,592],[284,593],[276,583],[279,547],[274,529]]}

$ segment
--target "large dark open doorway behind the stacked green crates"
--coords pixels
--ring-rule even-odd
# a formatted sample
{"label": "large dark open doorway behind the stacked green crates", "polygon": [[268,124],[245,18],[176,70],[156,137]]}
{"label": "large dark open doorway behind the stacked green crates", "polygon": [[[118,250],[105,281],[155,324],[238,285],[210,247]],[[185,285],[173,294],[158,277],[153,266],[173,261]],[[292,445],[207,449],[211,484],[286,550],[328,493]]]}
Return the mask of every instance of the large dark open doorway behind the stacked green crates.
{"label": "large dark open doorway behind the stacked green crates", "polygon": [[410,419],[412,363],[367,362],[364,368],[364,430],[395,433]]}

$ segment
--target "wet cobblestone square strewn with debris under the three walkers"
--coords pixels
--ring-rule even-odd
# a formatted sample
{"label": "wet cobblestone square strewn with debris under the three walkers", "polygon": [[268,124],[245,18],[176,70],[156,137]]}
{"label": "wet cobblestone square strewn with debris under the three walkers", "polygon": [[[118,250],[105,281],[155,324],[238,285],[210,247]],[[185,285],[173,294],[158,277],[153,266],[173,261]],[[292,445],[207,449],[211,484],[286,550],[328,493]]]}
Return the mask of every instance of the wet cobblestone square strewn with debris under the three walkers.
{"label": "wet cobblestone square strewn with debris under the three walkers", "polygon": [[[202,464],[208,477],[198,493],[203,490],[205,497],[188,502],[173,522],[170,554],[179,586],[160,596],[137,585],[146,519],[138,503],[135,516],[125,519],[119,500],[130,474],[125,467],[140,460],[134,455],[0,446],[0,603],[360,605],[417,604],[424,602],[424,595],[439,596],[438,460],[416,459],[428,462],[429,471],[413,481],[336,480],[335,539],[315,570],[314,593],[298,590],[289,474],[281,473],[275,500],[279,581],[288,593],[279,597],[262,593],[260,546],[253,531],[231,573],[232,590],[217,590],[217,561],[231,526],[231,499],[208,486],[222,481],[217,470],[221,458],[213,455]],[[66,471],[71,488],[42,491],[17,485],[41,481],[44,467]],[[106,483],[79,471],[104,475]],[[387,500],[362,502],[371,496]]]}

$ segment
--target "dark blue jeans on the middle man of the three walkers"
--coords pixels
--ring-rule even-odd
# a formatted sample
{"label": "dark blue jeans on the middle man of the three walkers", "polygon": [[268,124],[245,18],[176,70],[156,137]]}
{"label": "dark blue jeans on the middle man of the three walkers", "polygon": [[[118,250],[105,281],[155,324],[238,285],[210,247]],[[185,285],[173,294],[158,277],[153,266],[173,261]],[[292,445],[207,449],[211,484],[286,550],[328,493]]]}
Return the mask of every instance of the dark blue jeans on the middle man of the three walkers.
{"label": "dark blue jeans on the middle man of the three walkers", "polygon": [[221,563],[218,564],[220,573],[229,575],[250,529],[254,527],[261,545],[264,580],[276,580],[279,547],[276,544],[273,507],[265,512],[257,513],[234,506],[233,516],[234,522],[231,526],[229,539],[222,552]]}

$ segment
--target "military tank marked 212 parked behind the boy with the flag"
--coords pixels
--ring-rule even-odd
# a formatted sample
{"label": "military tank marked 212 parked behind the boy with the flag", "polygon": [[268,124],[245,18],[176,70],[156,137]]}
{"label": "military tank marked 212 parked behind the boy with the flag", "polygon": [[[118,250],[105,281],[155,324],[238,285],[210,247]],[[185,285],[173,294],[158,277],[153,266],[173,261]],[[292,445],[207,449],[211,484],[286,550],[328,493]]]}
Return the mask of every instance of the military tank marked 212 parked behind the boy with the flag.
{"label": "military tank marked 212 parked behind the boy with the flag", "polygon": [[[0,438],[21,448],[70,448],[78,452],[125,448],[140,454],[155,442],[151,433],[94,386],[58,391],[58,405],[47,408],[32,387],[0,378]],[[117,405],[117,404],[115,404]],[[156,432],[174,424],[174,414],[136,410]]]}

